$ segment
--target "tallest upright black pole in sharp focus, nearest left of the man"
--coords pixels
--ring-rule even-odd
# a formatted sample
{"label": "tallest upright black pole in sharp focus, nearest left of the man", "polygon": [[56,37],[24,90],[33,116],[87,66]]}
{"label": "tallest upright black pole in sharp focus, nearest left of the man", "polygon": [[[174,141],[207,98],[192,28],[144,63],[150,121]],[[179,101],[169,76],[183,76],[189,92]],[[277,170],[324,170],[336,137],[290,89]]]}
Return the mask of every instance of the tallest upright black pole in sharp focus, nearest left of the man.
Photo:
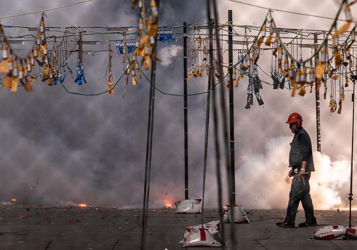
{"label": "tallest upright black pole in sharp focus, nearest left of the man", "polygon": [[[228,10],[228,66],[233,65],[233,36],[232,36],[232,10]],[[229,90],[229,134],[230,134],[230,159],[231,159],[231,185],[232,185],[232,201],[231,205],[236,204],[236,181],[235,181],[235,164],[234,164],[234,102],[233,102],[233,68],[228,70],[230,74],[230,90]]]}

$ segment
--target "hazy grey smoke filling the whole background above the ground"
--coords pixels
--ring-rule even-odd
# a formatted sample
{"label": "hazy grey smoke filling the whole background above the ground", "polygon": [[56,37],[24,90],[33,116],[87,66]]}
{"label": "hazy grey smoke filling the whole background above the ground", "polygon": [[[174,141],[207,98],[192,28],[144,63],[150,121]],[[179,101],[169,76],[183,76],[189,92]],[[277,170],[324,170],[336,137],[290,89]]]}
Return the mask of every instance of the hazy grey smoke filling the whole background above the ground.
{"label": "hazy grey smoke filling the whole background above the ground", "polygon": [[[6,1],[0,15],[35,11],[72,3],[73,1],[22,0],[21,4]],[[160,1],[159,25],[205,23],[206,1]],[[252,4],[334,17],[335,1],[249,1]],[[227,10],[233,10],[233,24],[261,25],[266,10],[219,0],[219,22],[227,21]],[[353,10],[356,6],[353,5]],[[46,12],[45,26],[137,26],[138,10],[132,10],[128,1],[100,1]],[[344,14],[342,14],[344,17]],[[296,29],[328,30],[331,20],[273,12],[278,26]],[[36,26],[39,14],[2,20],[3,24]],[[340,25],[340,23],[339,23]],[[16,29],[5,29],[15,34]],[[181,29],[176,32],[181,33]],[[21,35],[27,34],[20,29]],[[244,32],[242,29],[238,33]],[[46,33],[49,35],[49,32]],[[177,35],[180,36],[180,35]],[[122,39],[121,35],[86,37],[90,39]],[[103,49],[103,44],[84,45],[84,50]],[[175,45],[172,47],[172,45]],[[223,44],[226,46],[226,44]],[[30,42],[23,47],[30,46]],[[71,49],[69,44],[68,49]],[[112,43],[112,48],[115,44]],[[182,46],[182,40],[172,44],[159,43],[159,55],[173,62],[170,53]],[[264,46],[264,45],[263,45]],[[51,45],[49,48],[52,48]],[[309,51],[303,56],[308,57]],[[268,54],[268,53],[267,53]],[[259,65],[270,70],[271,56],[263,54]],[[227,53],[224,61],[227,61]],[[84,55],[87,84],[76,85],[70,75],[65,86],[69,91],[96,93],[107,88],[107,53]],[[234,54],[236,61],[237,55]],[[69,58],[75,69],[76,54]],[[113,77],[122,74],[122,57],[113,56]],[[167,65],[167,63],[166,63]],[[156,86],[164,92],[183,92],[183,61],[178,57],[173,69],[170,63],[157,64]],[[150,72],[147,72],[147,76]],[[271,79],[259,71],[262,80]],[[0,76],[3,79],[3,75]],[[207,76],[190,79],[188,92],[206,90]],[[235,91],[235,148],[237,203],[249,208],[285,207],[289,185],[287,174],[289,142],[292,134],[285,124],[291,112],[299,112],[304,128],[312,138],[316,151],[315,95],[290,97],[289,90],[273,90],[264,85],[261,96],[265,104],[256,100],[246,110],[247,79],[243,78]],[[144,79],[137,86],[126,86],[120,81],[113,95],[79,96],[67,94],[60,86],[51,89],[47,83],[36,81],[33,91],[22,88],[15,93],[0,91],[0,145],[2,154],[0,200],[35,203],[139,205],[144,185],[147,110],[149,84]],[[351,84],[350,84],[351,86]],[[350,90],[349,87],[348,90]],[[310,90],[307,88],[307,90]],[[347,90],[347,89],[346,89]],[[323,91],[323,90],[322,90]],[[321,96],[322,92],[321,91]],[[330,93],[330,87],[328,87]],[[314,153],[316,173],[311,179],[311,193],[315,205],[321,208],[345,202],[349,189],[351,154],[352,103],[351,92],[346,93],[342,114],[330,114],[329,100],[321,100],[322,155]],[[322,97],[321,97],[322,98]],[[205,127],[205,95],[188,97],[189,193],[202,196],[202,166]],[[212,117],[212,116],[211,116]],[[212,129],[213,125],[210,124]],[[216,201],[212,130],[208,146],[206,202]],[[162,95],[156,91],[154,140],[150,203],[159,206],[184,198],[183,159],[183,98]],[[30,190],[37,177],[35,189]],[[166,194],[167,193],[167,194]],[[259,197],[259,198],[257,198]],[[340,200],[341,199],[341,200]]]}

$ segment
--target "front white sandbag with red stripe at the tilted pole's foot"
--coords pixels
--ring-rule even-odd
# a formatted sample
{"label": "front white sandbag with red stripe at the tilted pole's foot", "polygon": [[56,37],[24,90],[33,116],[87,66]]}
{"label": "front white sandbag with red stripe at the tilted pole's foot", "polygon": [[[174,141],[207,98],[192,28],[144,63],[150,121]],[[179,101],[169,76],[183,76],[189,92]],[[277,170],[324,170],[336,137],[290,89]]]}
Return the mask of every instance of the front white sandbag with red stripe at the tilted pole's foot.
{"label": "front white sandbag with red stripe at the tilted pole's foot", "polygon": [[191,246],[218,247],[221,246],[221,243],[214,238],[207,228],[198,228],[188,233],[182,247],[187,248]]}

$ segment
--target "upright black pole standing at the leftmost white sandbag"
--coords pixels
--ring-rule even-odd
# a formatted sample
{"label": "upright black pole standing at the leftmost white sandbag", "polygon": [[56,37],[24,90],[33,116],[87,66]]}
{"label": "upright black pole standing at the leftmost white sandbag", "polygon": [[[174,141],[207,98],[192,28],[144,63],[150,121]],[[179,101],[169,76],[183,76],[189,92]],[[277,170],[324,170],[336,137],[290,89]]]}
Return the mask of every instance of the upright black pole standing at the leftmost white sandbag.
{"label": "upright black pole standing at the leftmost white sandbag", "polygon": [[183,22],[183,129],[185,132],[185,200],[188,199],[188,134],[187,134],[187,23]]}

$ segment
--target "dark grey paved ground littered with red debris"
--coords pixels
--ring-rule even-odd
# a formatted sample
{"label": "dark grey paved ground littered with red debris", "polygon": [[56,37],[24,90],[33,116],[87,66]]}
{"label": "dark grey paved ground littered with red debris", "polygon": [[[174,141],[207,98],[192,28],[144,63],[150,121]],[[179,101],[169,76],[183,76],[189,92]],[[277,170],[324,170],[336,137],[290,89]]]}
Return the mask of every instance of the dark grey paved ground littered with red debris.
{"label": "dark grey paved ground littered with red debris", "polygon": [[[29,210],[27,210],[29,209]],[[205,210],[206,211],[206,210]],[[282,210],[246,210],[250,224],[235,225],[236,249],[356,249],[357,240],[311,240],[316,228],[282,229]],[[27,219],[20,216],[27,215]],[[141,210],[100,207],[0,205],[0,249],[140,249]],[[348,226],[347,211],[316,211],[320,226]],[[205,221],[218,219],[207,210]],[[353,222],[357,224],[357,212]],[[72,220],[73,224],[68,224]],[[176,215],[174,209],[150,210],[146,249],[180,249],[185,224],[199,224],[201,215]],[[305,221],[298,212],[296,223]],[[229,225],[226,225],[229,229]],[[226,249],[233,249],[231,240]],[[187,248],[209,249],[209,248]]]}

